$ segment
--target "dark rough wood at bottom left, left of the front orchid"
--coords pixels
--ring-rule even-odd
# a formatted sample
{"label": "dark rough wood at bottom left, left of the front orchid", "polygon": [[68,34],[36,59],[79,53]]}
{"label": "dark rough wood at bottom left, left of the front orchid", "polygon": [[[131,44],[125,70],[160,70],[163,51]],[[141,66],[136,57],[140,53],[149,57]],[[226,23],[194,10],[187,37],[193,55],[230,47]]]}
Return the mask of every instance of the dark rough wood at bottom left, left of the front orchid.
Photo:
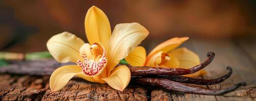
{"label": "dark rough wood at bottom left, left of the front orchid", "polygon": [[0,99],[1,100],[40,100],[44,93],[42,77],[0,75]]}

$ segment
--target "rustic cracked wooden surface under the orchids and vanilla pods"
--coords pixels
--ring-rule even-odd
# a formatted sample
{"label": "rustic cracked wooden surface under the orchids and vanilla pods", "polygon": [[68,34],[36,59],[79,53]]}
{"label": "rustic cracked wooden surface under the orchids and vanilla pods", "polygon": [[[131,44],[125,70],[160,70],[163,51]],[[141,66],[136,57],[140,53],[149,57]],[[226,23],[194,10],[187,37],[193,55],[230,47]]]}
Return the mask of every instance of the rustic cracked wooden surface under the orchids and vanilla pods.
{"label": "rustic cracked wooden surface under the orchids and vanilla pods", "polygon": [[[159,41],[160,42],[160,41]],[[156,45],[157,42],[153,45]],[[201,60],[207,52],[216,54],[214,61],[205,68],[207,75],[202,78],[216,78],[226,72],[225,67],[233,68],[233,75],[226,81],[205,87],[220,89],[245,81],[247,86],[224,95],[197,95],[174,92],[161,88],[146,88],[130,84],[123,92],[114,90],[106,84],[96,84],[74,78],[57,92],[49,90],[49,76],[0,74],[1,100],[256,100],[256,41],[253,40],[189,40],[187,48],[197,53]],[[152,47],[148,47],[151,49]],[[62,64],[45,62],[52,68]],[[15,65],[16,68],[19,65]],[[14,66],[14,67],[15,67]],[[33,64],[28,67],[40,68]],[[14,69],[13,69],[14,70]],[[14,70],[15,71],[15,70]],[[50,74],[50,73],[49,73]]]}

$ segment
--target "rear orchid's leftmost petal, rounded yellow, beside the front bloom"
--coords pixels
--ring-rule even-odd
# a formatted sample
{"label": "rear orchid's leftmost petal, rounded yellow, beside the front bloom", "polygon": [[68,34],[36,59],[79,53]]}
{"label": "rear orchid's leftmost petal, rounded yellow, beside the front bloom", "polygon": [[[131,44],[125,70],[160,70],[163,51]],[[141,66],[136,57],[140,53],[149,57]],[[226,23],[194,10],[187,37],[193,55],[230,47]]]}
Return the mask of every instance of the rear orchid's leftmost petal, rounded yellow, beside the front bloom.
{"label": "rear orchid's leftmost petal, rounded yellow, beside the front bloom", "polygon": [[143,46],[137,46],[125,58],[125,60],[131,66],[144,66],[146,57],[147,57],[146,49]]}

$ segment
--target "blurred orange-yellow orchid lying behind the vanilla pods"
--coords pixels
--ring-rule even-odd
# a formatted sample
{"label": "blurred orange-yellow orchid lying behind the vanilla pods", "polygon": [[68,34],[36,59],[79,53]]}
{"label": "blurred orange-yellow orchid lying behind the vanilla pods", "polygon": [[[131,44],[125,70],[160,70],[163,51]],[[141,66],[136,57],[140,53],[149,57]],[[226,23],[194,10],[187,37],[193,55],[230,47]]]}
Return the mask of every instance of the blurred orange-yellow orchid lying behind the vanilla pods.
{"label": "blurred orange-yellow orchid lying behind the vanilla pods", "polygon": [[[137,46],[125,60],[131,66],[151,66],[170,68],[191,68],[200,64],[199,57],[185,47],[177,48],[188,37],[175,37],[157,45],[147,56],[146,49]],[[198,77],[205,74],[203,70],[185,76]]]}

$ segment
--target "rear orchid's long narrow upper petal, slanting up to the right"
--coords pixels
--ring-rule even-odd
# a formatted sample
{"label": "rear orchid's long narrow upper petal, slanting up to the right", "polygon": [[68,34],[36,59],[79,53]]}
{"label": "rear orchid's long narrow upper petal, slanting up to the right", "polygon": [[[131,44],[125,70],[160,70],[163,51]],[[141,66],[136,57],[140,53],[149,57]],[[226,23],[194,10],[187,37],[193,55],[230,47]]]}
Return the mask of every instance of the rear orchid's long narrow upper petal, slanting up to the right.
{"label": "rear orchid's long narrow upper petal, slanting up to the right", "polygon": [[168,53],[173,49],[180,46],[184,41],[188,40],[188,37],[174,37],[169,40],[166,40],[160,44],[158,44],[148,55],[148,58],[151,58],[153,54],[162,51],[163,53]]}

